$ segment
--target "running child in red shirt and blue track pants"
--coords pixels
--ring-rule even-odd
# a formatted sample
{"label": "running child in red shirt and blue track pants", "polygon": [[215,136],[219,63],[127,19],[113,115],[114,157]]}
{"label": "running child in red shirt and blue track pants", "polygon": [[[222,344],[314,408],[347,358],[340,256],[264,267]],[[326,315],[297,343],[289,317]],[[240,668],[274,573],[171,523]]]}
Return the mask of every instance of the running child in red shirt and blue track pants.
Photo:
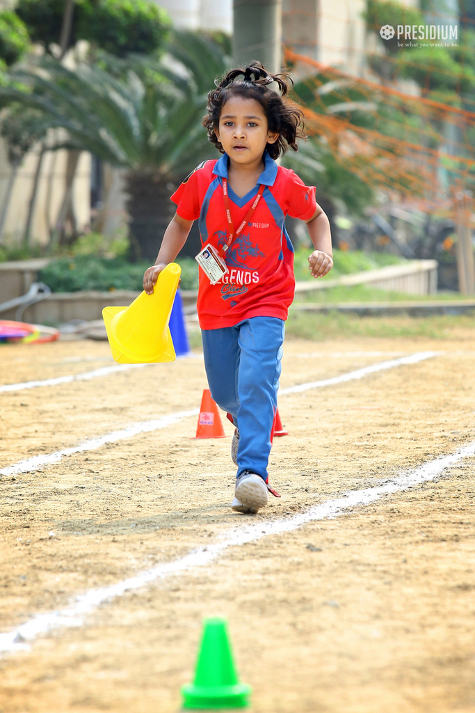
{"label": "running child in red shirt and blue track pants", "polygon": [[295,288],[286,215],[307,224],[315,247],[308,258],[313,277],[333,266],[330,224],[315,202],[315,188],[274,160],[288,146],[298,150],[296,139],[303,137],[301,111],[286,99],[287,91],[288,76],[252,62],[231,70],[209,93],[203,123],[222,156],[200,164],[172,195],[177,212],[157,262],[144,275],[145,292],[152,294],[159,273],[199,220],[204,364],[214,401],[236,426],[231,508],[241,513],[256,513],[267,503],[283,327]]}

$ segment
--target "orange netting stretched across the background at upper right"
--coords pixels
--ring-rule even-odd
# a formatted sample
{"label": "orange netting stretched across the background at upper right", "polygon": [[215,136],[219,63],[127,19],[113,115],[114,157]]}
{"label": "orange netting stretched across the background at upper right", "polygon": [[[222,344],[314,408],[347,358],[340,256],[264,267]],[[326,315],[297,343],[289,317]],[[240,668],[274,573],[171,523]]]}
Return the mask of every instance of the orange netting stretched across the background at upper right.
{"label": "orange netting stretched across the background at upper right", "polygon": [[[475,189],[475,112],[352,76],[290,49],[285,59],[308,75],[305,91],[294,92],[308,133],[372,188],[445,215],[454,210],[454,189]],[[370,126],[356,123],[358,108]]]}

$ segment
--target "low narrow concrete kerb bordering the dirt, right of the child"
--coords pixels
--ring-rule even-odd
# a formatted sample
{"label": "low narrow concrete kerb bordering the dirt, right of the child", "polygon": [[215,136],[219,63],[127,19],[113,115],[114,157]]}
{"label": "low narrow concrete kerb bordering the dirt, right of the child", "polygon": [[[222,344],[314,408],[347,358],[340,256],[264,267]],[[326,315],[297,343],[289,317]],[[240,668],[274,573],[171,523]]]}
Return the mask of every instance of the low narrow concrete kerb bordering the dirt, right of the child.
{"label": "low narrow concrete kerb bordering the dirt, right of the child", "polygon": [[431,314],[475,314],[475,299],[457,299],[428,302],[339,302],[335,304],[309,304],[294,302],[291,311],[346,312],[360,317],[390,317],[394,314],[408,314],[410,317],[429,317]]}

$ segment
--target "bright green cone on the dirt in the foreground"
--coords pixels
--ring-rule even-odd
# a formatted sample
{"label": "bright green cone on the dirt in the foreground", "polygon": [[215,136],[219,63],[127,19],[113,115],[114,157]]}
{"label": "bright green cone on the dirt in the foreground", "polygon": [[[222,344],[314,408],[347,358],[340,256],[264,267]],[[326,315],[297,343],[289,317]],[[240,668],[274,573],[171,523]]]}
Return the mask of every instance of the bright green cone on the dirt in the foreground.
{"label": "bright green cone on the dirt in the foreground", "polygon": [[239,683],[224,619],[205,619],[194,682],[182,687],[185,710],[246,708],[251,687]]}

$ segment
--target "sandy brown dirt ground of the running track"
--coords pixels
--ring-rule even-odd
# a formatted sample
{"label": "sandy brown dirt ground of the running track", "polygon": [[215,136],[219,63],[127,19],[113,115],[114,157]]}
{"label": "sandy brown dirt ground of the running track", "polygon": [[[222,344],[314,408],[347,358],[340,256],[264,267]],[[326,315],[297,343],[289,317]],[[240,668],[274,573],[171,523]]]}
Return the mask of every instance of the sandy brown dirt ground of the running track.
{"label": "sandy brown dirt ground of the running track", "polygon": [[[231,438],[197,417],[1,478],[8,632],[90,588],[171,562],[475,441],[475,329],[445,341],[288,340],[281,387],[415,352],[437,356],[282,395],[271,498],[229,508]],[[1,384],[112,366],[108,344],[1,345]],[[0,394],[0,468],[199,406],[202,358]],[[232,427],[223,419],[226,433]],[[331,520],[230,547],[0,658],[1,713],[172,713],[203,617],[229,621],[255,713],[475,712],[475,459]],[[53,534],[52,534],[53,533]],[[310,546],[309,546],[310,545]]]}

